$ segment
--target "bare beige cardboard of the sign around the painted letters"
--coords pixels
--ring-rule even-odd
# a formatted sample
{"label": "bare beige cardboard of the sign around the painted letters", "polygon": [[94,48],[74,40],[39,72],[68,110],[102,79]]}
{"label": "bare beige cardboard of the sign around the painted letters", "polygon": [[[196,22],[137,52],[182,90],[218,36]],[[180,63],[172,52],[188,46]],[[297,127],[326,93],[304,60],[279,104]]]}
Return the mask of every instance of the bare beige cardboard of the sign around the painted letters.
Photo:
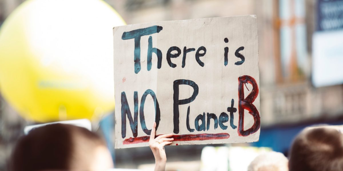
{"label": "bare beige cardboard of the sign around the painted letters", "polygon": [[[162,26],[163,29],[148,36],[141,37],[141,70],[136,74],[134,72],[134,39],[122,40],[123,32],[146,28],[150,26]],[[152,47],[162,51],[162,66],[157,69],[156,54],[152,54],[152,68],[147,70],[147,49],[148,38],[152,36]],[[143,24],[133,24],[114,27],[114,81],[115,81],[115,148],[128,148],[148,146],[147,142],[124,145],[123,141],[133,137],[129,120],[126,116],[126,137],[122,138],[122,114],[121,114],[121,94],[125,92],[127,101],[134,117],[134,91],[138,92],[138,136],[149,136],[141,128],[139,110],[143,93],[151,89],[155,92],[159,108],[161,111],[161,120],[156,134],[173,133],[173,82],[178,79],[187,79],[194,81],[199,87],[199,93],[195,100],[189,104],[179,105],[179,133],[184,134],[216,134],[228,133],[227,139],[214,139],[203,141],[174,141],[172,145],[184,144],[218,144],[218,143],[241,143],[255,142],[259,139],[260,129],[248,136],[239,136],[238,128],[230,127],[230,113],[227,108],[231,106],[234,99],[234,107],[237,112],[234,115],[234,125],[238,127],[238,78],[248,75],[253,77],[259,86],[259,68],[258,68],[258,38],[257,38],[257,19],[255,15],[233,16],[191,19],[182,21],[163,21]],[[224,38],[228,42],[224,42]],[[170,47],[177,46],[181,49],[181,54],[177,58],[171,58],[171,62],[176,64],[175,68],[168,65],[166,54]],[[195,48],[195,51],[186,55],[185,67],[182,68],[182,56],[184,47]],[[199,47],[206,48],[206,54],[200,57],[204,66],[200,66],[195,58]],[[224,48],[228,47],[228,63],[224,65]],[[239,47],[244,50],[239,51],[244,55],[245,62],[241,65],[235,65],[235,62],[241,61],[235,56],[235,51]],[[176,51],[173,51],[176,53]],[[203,53],[203,51],[201,51]],[[249,89],[249,91],[247,90]],[[245,97],[252,91],[252,84],[245,84]],[[188,85],[179,86],[179,99],[189,98],[193,93],[193,88]],[[252,103],[260,111],[260,95]],[[199,114],[213,113],[219,118],[222,112],[228,114],[227,126],[223,130],[218,126],[214,129],[214,120],[210,120],[209,130],[190,132],[186,127],[187,108],[190,106],[189,123],[190,128],[194,129],[194,120]],[[244,113],[244,130],[249,129],[254,119],[249,115],[248,110]],[[155,107],[153,98],[147,95],[144,105],[144,117],[146,127],[152,128],[155,120]],[[207,124],[207,117],[205,119]],[[201,124],[201,121],[199,122]],[[205,124],[205,126],[206,126]],[[174,133],[175,134],[175,133]]]}

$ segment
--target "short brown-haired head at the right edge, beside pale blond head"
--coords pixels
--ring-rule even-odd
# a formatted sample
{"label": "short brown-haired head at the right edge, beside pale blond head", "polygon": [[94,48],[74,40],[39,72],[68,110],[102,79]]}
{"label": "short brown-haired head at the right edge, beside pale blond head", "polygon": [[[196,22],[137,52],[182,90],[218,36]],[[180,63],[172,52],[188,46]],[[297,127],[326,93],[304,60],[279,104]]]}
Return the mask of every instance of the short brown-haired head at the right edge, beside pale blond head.
{"label": "short brown-haired head at the right edge, beside pale blond head", "polygon": [[343,136],[332,128],[307,128],[289,151],[289,171],[343,171]]}

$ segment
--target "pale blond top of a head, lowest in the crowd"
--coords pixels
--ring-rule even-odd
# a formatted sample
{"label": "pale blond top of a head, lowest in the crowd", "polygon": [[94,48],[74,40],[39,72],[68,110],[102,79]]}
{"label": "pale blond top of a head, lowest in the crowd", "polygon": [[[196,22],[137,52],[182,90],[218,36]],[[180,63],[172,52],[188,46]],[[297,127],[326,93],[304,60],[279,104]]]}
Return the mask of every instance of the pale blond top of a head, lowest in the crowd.
{"label": "pale blond top of a head, lowest in the crowd", "polygon": [[282,153],[264,153],[250,163],[248,171],[288,171],[288,159]]}

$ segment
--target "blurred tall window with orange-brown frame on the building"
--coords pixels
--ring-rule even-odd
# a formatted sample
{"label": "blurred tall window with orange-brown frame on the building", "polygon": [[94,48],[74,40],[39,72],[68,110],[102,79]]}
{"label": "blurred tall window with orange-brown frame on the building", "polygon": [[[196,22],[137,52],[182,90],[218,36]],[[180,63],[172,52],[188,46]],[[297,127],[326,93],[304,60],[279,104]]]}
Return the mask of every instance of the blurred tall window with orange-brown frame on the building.
{"label": "blurred tall window with orange-brown frame on the building", "polygon": [[305,0],[279,0],[279,74],[281,82],[301,81],[307,70]]}

